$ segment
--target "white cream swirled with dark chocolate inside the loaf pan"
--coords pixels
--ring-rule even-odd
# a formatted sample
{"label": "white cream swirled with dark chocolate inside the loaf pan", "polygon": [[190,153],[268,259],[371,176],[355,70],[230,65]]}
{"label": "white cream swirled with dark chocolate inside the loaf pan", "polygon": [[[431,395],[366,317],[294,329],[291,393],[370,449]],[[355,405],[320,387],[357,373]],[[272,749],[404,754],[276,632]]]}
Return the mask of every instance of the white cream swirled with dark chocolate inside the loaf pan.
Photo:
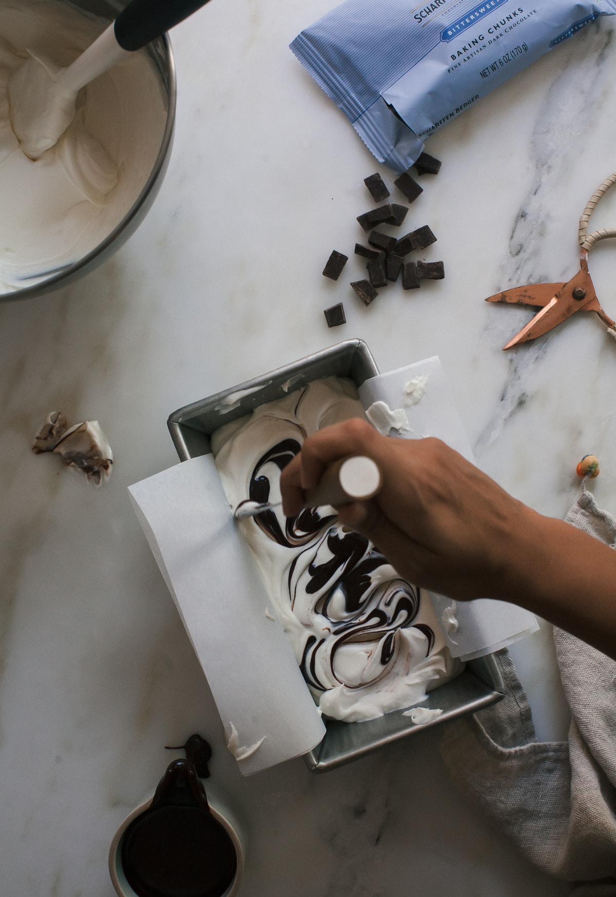
{"label": "white cream swirled with dark chocolate inside the loaf pan", "polygon": [[[260,405],[212,436],[232,508],[280,500],[280,472],[304,439],[365,417],[351,380],[329,377]],[[457,675],[430,601],[332,508],[238,523],[304,679],[324,715],[360,722],[423,701]]]}

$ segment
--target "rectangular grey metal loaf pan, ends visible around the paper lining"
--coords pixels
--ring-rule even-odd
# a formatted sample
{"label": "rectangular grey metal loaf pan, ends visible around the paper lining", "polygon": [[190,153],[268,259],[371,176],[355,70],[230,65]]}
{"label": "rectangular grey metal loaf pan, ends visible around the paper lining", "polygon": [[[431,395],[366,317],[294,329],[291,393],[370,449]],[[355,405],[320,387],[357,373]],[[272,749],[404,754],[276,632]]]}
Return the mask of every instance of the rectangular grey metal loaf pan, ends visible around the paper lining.
{"label": "rectangular grey metal loaf pan, ends visible around the paper lining", "polygon": [[[224,423],[250,414],[253,408],[282,398],[312,380],[330,376],[348,377],[360,387],[366,379],[378,373],[374,358],[363,340],[347,340],[287,364],[284,368],[272,370],[263,377],[186,405],[171,414],[167,424],[180,460],[188,461],[191,457],[210,453],[209,437]],[[461,675],[430,692],[427,701],[422,702],[422,706],[443,710],[432,723],[417,727],[399,710],[365,723],[327,720],[327,735],[320,745],[305,754],[304,761],[313,772],[333,770],[342,763],[357,760],[366,753],[428,726],[436,726],[446,719],[488,707],[502,696],[503,683],[494,658],[488,656],[471,660]]]}

